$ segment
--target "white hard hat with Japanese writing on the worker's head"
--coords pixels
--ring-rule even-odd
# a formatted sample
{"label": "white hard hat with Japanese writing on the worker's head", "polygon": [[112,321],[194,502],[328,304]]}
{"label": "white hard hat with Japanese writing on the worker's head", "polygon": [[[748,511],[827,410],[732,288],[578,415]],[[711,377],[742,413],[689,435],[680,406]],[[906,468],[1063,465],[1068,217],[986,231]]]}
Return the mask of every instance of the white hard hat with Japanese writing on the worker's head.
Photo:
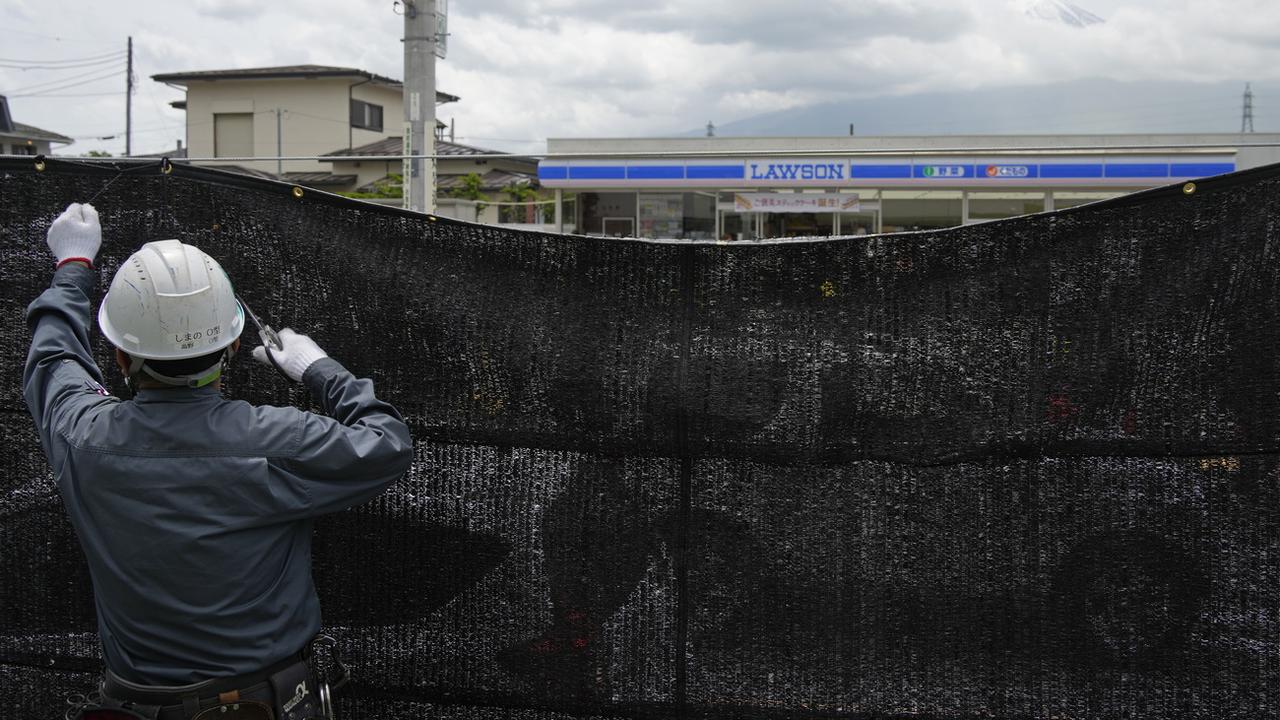
{"label": "white hard hat with Japanese writing on the worker's head", "polygon": [[115,272],[97,324],[136,359],[184,360],[236,342],[244,310],[218,260],[193,245],[161,240],[143,245]]}

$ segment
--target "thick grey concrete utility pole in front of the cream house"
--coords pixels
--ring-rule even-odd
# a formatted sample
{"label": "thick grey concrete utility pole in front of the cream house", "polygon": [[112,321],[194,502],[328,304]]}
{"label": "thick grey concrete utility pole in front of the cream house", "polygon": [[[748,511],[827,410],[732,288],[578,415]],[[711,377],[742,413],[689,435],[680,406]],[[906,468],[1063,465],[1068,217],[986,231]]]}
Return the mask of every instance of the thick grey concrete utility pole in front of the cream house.
{"label": "thick grey concrete utility pole in front of the cream house", "polygon": [[435,0],[404,0],[404,208],[435,213]]}

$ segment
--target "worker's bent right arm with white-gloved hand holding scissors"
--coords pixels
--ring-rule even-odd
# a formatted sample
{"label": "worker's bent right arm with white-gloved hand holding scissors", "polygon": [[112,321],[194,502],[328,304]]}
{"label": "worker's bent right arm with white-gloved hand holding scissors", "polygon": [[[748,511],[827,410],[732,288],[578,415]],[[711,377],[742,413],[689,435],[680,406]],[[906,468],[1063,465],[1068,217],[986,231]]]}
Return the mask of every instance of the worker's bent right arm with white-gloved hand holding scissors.
{"label": "worker's bent right arm with white-gloved hand holding scissors", "polygon": [[352,375],[307,336],[280,331],[283,348],[253,348],[302,382],[320,402],[321,416],[303,414],[297,451],[278,461],[302,483],[312,515],[334,512],[376,496],[408,470],[413,443],[399,413],[374,396],[374,383]]}

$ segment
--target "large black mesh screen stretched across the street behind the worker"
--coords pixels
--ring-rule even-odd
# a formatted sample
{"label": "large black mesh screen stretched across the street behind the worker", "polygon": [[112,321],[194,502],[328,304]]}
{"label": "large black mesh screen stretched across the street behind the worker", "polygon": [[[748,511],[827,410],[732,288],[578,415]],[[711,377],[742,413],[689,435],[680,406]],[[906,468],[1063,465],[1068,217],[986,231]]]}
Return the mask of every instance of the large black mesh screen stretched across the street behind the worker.
{"label": "large black mesh screen stretched across the street behind the worker", "polygon": [[[316,529],[344,717],[1280,714],[1277,167],[714,245],[8,159],[9,717],[60,716],[100,667],[20,397],[45,231],[93,195],[100,291],[146,241],[197,245],[412,428],[408,475]],[[311,404],[244,356],[225,392]]]}

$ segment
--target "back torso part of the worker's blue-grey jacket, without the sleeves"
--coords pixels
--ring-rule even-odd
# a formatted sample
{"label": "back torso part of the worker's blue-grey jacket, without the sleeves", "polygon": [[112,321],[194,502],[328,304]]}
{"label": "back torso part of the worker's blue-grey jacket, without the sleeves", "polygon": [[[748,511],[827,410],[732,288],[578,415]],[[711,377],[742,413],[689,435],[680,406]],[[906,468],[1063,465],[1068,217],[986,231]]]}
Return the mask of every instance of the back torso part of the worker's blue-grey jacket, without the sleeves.
{"label": "back torso part of the worker's blue-grey jacket, without the sleeves", "polygon": [[143,389],[64,425],[58,482],[116,674],[236,675],[316,634],[311,505],[287,468],[302,425],[214,388]]}

